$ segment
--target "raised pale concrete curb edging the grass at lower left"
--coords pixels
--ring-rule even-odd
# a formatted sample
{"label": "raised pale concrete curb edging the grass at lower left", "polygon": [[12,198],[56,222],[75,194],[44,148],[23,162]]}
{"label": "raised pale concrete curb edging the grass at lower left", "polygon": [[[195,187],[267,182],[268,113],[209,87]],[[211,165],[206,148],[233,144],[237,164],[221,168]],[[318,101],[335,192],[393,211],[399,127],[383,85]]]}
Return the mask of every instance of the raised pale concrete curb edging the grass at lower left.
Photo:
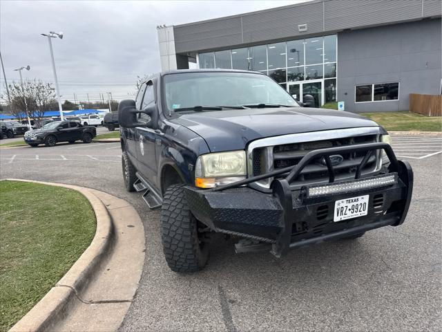
{"label": "raised pale concrete curb edging the grass at lower left", "polygon": [[15,178],[5,180],[41,183],[77,190],[90,202],[97,219],[97,230],[90,246],[68,270],[66,275],[57,282],[50,291],[23,317],[12,326],[10,332],[45,331],[66,316],[70,302],[77,297],[77,293],[84,289],[93,273],[99,268],[99,263],[106,256],[113,237],[113,223],[106,207],[95,194],[87,188],[60,183],[42,181],[28,181]]}

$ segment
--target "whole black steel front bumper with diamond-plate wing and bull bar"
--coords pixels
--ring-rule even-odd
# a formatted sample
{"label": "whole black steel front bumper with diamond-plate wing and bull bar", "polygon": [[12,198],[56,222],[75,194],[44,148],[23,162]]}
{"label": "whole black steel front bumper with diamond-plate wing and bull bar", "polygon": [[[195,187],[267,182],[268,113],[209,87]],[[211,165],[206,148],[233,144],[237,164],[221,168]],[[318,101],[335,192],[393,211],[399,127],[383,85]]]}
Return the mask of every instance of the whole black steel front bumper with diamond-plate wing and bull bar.
{"label": "whole black steel front bumper with diamond-plate wing and bull bar", "polygon": [[[388,210],[383,213],[369,211],[363,218],[349,219],[345,223],[329,223],[330,228],[325,234],[316,236],[309,232],[308,236],[295,237],[294,223],[309,223],[311,210],[320,204],[329,204],[339,199],[346,199],[352,190],[339,194],[329,194],[320,197],[309,197],[309,187],[323,187],[327,185],[307,185],[300,190],[294,191],[290,183],[295,181],[309,163],[318,158],[323,158],[327,167],[329,184],[335,183],[335,172],[330,156],[351,152],[365,151],[366,154],[361,163],[356,167],[355,178],[352,181],[340,181],[338,184],[355,183],[373,177],[363,177],[362,169],[366,165],[374,151],[383,150],[390,160],[390,165],[385,174],[394,174],[395,182],[389,185],[381,185],[374,188],[353,190],[358,194],[385,194],[385,205]],[[288,174],[287,174],[288,172]],[[275,178],[271,183],[271,193],[265,194],[244,187],[249,183],[273,178],[281,174],[287,174],[285,178]],[[304,246],[339,237],[349,237],[361,234],[367,230],[373,230],[385,225],[401,225],[405,220],[413,189],[413,171],[407,161],[397,160],[392,147],[384,142],[353,145],[344,147],[332,147],[310,151],[300,160],[297,165],[278,169],[267,174],[253,176],[235,183],[222,185],[210,190],[199,190],[195,187],[186,187],[186,199],[189,208],[197,219],[209,226],[209,228],[228,234],[238,235],[272,245],[273,255],[280,257],[287,253],[290,248]],[[332,208],[332,211],[334,208]],[[363,221],[361,221],[363,219]],[[336,225],[338,224],[338,225]],[[262,244],[256,244],[259,250]],[[244,251],[250,251],[247,249]],[[238,251],[238,247],[237,247]]]}

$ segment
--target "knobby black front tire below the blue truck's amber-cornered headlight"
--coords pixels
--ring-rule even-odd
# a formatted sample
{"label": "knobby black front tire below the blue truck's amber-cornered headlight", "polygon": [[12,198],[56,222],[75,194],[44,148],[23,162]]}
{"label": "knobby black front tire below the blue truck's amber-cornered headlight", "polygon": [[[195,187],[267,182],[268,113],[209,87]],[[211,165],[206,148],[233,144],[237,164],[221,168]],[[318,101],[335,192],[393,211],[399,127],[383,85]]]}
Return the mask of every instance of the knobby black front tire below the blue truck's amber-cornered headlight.
{"label": "knobby black front tire below the blue truck's amber-cornered headlight", "polygon": [[209,259],[209,246],[198,232],[198,220],[189,210],[184,185],[171,185],[161,208],[162,245],[167,265],[175,272],[202,270]]}

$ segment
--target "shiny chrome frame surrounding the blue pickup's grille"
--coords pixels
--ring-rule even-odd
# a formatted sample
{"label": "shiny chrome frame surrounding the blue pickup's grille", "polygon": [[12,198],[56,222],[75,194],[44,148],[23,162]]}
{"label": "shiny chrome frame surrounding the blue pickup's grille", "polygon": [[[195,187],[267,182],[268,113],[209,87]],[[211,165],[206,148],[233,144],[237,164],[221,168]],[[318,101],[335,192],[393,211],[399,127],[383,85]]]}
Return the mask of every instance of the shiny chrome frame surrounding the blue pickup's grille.
{"label": "shiny chrome frame surrounding the blue pickup's grille", "polygon": [[[360,128],[349,128],[349,129],[336,129],[336,130],[325,130],[325,131],[311,131],[307,133],[291,133],[282,136],[273,136],[269,138],[262,138],[259,140],[254,140],[249,143],[247,147],[247,174],[249,177],[257,174],[253,174],[256,165],[253,164],[253,150],[261,149],[260,160],[262,162],[262,174],[273,171],[274,160],[273,160],[273,148],[278,145],[289,145],[298,144],[305,142],[318,142],[324,140],[334,140],[340,138],[354,138],[358,136],[376,136],[376,142],[381,142],[381,128],[380,127],[360,127]],[[382,167],[382,151],[377,151],[376,153],[376,163],[374,169],[371,169],[368,173],[378,172]],[[367,174],[367,172],[363,173]],[[352,176],[347,176],[345,178],[351,178]],[[339,178],[338,181],[343,178]],[[252,183],[253,187],[258,186],[257,189],[269,189],[271,181],[273,178],[267,178],[263,181],[257,181]],[[325,181],[315,181],[313,183],[327,183]],[[309,182],[311,184],[312,182]]]}

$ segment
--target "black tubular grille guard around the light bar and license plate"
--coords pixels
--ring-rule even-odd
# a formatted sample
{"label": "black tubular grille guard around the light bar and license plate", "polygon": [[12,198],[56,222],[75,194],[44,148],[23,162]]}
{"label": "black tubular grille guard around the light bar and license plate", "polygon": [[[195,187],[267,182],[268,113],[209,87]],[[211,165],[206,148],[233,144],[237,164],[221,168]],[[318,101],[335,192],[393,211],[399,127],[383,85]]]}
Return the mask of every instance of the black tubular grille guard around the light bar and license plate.
{"label": "black tubular grille guard around the light bar and license plate", "polygon": [[[327,166],[327,172],[329,174],[329,183],[334,183],[335,176],[334,176],[334,168],[332,165],[332,162],[330,160],[330,156],[333,154],[340,154],[340,153],[349,153],[349,152],[358,152],[358,151],[367,151],[365,154],[363,160],[356,168],[356,174],[355,174],[355,180],[358,178],[361,178],[361,171],[365,164],[367,163],[367,160],[369,160],[369,157],[372,156],[373,151],[377,151],[382,149],[387,154],[388,159],[390,160],[390,166],[388,167],[389,173],[396,172],[398,174],[398,178],[401,179],[401,181],[405,184],[406,190],[404,193],[404,196],[406,197],[405,203],[401,207],[402,214],[401,218],[394,222],[392,225],[401,225],[403,223],[405,216],[407,215],[408,208],[410,207],[410,201],[412,197],[412,189],[413,189],[413,171],[412,167],[407,161],[403,160],[397,160],[396,156],[394,155],[394,151],[392,147],[384,142],[376,142],[376,143],[369,143],[369,144],[363,144],[363,145],[356,145],[356,146],[344,146],[344,147],[332,147],[327,149],[318,149],[314,151],[308,152],[297,165],[285,167],[282,169],[278,169],[273,172],[269,172],[267,174],[262,174],[259,176],[253,176],[251,178],[246,178],[241,181],[236,181],[235,183],[229,183],[228,185],[222,185],[220,187],[215,187],[209,191],[212,192],[222,192],[223,190],[240,187],[242,185],[247,185],[249,183],[253,183],[256,181],[264,180],[265,178],[271,178],[274,176],[278,176],[280,174],[285,174],[289,172],[289,174],[285,178],[276,178],[271,183],[271,188],[273,190],[273,195],[277,196],[281,205],[282,209],[284,211],[284,228],[282,232],[280,232],[278,236],[278,240],[276,243],[273,243],[273,248],[271,252],[273,255],[276,255],[277,257],[280,257],[281,255],[284,255],[287,253],[289,248],[294,248],[295,246],[302,245],[304,243],[290,243],[291,241],[291,226],[294,221],[294,207],[293,207],[293,198],[292,198],[292,192],[290,188],[290,183],[292,181],[295,181],[298,176],[300,176],[302,169],[304,169],[305,166],[309,165],[309,163],[316,159],[323,157],[325,159],[325,164]],[[304,199],[305,197],[300,195],[299,199]],[[363,225],[360,227],[356,227],[349,230],[344,230],[343,234],[345,235],[351,235],[351,234],[357,234],[358,232],[364,232],[365,230],[374,229],[378,227],[382,227],[385,225],[390,225],[390,223],[378,223],[378,225]],[[361,229],[359,229],[361,228]],[[334,234],[329,234],[329,236],[325,236],[322,239],[311,239],[311,241],[305,241],[305,244],[307,242],[319,242],[324,241],[327,237],[334,237]],[[337,235],[337,234],[336,234]]]}

